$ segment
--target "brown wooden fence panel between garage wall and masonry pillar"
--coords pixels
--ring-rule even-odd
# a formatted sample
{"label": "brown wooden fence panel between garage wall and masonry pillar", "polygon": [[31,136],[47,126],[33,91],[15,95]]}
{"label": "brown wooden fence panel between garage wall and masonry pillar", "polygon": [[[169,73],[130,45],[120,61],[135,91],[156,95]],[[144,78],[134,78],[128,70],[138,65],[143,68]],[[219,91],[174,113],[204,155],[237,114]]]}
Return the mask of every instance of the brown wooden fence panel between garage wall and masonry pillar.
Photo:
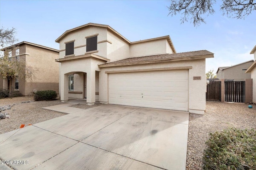
{"label": "brown wooden fence panel between garage wall and masonry pillar", "polygon": [[221,101],[221,81],[210,81],[207,85],[206,100]]}

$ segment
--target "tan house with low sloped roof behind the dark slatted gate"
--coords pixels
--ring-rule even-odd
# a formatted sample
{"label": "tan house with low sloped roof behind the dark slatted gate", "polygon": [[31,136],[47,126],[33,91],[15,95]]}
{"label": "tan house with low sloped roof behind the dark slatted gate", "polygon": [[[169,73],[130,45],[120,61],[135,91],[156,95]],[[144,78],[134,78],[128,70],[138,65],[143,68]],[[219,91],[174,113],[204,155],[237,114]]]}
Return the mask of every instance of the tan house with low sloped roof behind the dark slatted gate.
{"label": "tan house with low sloped roof behind the dark slatted gate", "polygon": [[251,74],[245,73],[246,69],[253,63],[253,60],[246,61],[244,63],[232,65],[229,67],[219,67],[217,70],[218,79],[228,79],[234,81],[244,81],[244,79],[250,79]]}

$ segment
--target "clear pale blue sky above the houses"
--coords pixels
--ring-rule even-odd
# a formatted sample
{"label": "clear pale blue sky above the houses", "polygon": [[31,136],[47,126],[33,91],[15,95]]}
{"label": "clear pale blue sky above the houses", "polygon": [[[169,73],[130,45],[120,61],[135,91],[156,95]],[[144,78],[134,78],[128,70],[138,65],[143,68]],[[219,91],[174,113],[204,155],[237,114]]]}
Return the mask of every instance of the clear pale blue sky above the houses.
{"label": "clear pale blue sky above the houses", "polygon": [[[218,2],[218,1],[217,1]],[[220,2],[218,2],[220,3]],[[222,16],[220,4],[206,24],[180,24],[168,16],[170,1],[12,1],[0,0],[0,26],[16,28],[19,42],[59,49],[55,40],[66,30],[89,22],[106,24],[133,41],[170,35],[177,52],[206,49],[206,72],[253,59],[256,11],[244,20]]]}

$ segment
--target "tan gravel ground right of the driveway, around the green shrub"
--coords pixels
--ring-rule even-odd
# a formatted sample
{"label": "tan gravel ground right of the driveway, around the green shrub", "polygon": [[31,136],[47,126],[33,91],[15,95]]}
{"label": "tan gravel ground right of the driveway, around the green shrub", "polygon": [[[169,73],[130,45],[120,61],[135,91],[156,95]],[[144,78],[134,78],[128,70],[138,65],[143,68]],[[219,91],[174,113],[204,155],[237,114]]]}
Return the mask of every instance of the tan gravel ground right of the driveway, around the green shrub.
{"label": "tan gravel ground right of the driveway, around the green shrub", "polygon": [[187,170],[201,170],[204,144],[211,132],[228,127],[256,129],[256,105],[206,101],[205,115],[189,115]]}

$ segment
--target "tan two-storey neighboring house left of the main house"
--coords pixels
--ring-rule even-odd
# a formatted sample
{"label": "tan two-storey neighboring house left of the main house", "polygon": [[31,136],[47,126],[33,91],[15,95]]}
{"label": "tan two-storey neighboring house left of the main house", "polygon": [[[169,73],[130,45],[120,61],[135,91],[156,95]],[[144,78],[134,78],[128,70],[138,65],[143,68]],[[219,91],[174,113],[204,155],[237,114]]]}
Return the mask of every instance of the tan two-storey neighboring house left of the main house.
{"label": "tan two-storey neighboring house left of the main house", "polygon": [[18,76],[10,80],[1,77],[0,89],[18,91],[22,95],[29,95],[34,89],[54,90],[58,93],[59,64],[55,62],[59,56],[58,49],[20,42],[1,50],[8,55],[9,59],[25,61],[26,67],[32,68],[34,77],[26,80]]}

